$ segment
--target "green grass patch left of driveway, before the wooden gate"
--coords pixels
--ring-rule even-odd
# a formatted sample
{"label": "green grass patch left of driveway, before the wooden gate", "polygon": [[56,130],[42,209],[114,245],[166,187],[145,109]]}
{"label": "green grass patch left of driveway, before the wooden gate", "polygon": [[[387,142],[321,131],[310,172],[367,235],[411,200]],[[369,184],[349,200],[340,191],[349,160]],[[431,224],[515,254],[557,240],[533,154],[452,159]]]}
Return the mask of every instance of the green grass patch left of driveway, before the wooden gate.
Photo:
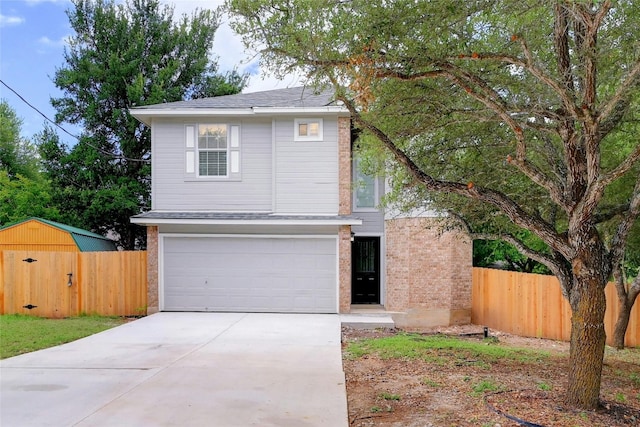
{"label": "green grass patch left of driveway, before the wooden gate", "polygon": [[5,314],[0,316],[0,359],[75,341],[125,321],[120,317],[103,316],[44,319]]}

